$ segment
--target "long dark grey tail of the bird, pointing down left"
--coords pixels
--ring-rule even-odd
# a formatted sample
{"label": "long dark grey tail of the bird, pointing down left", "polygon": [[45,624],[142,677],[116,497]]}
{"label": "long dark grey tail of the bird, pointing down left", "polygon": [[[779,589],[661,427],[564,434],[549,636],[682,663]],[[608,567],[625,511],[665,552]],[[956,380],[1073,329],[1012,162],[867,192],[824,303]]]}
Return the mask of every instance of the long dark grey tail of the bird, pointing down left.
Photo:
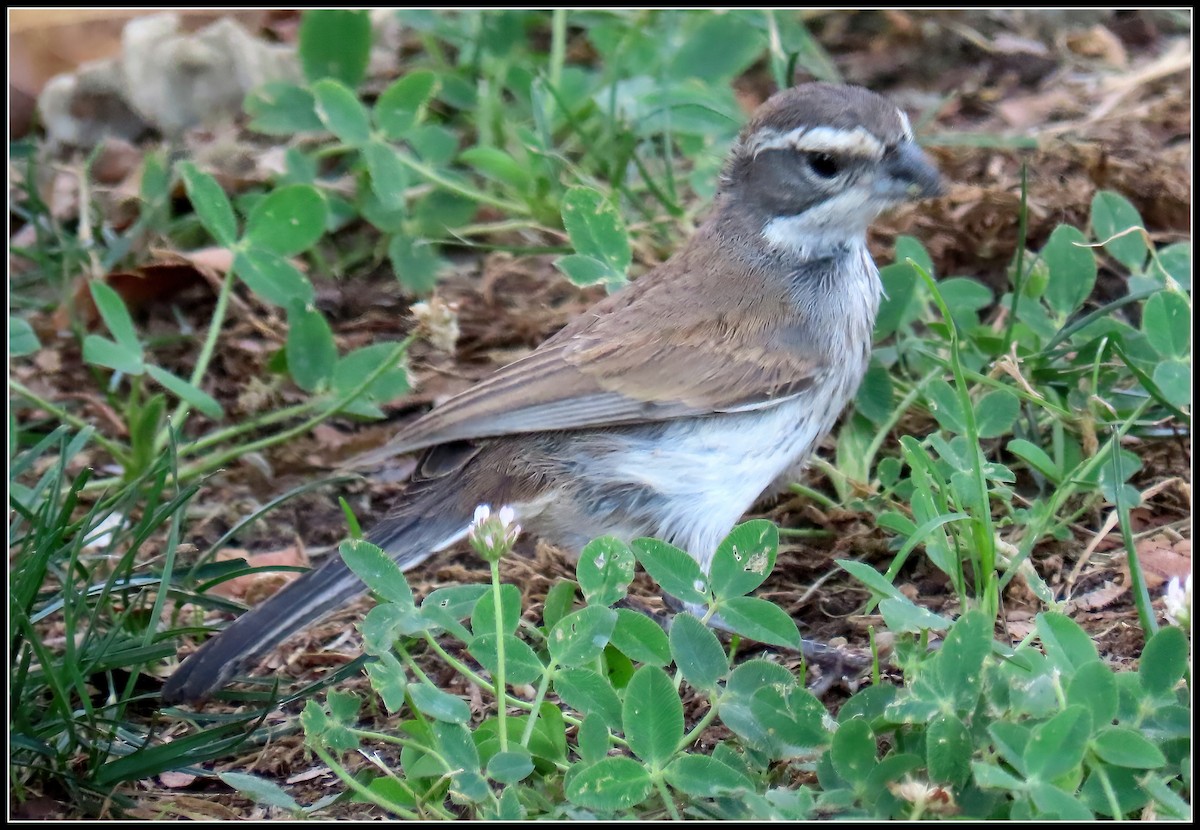
{"label": "long dark grey tail of the bird, pointing down left", "polygon": [[[454,509],[421,510],[424,506],[406,505],[404,511],[384,519],[367,535],[406,571],[464,531],[470,521],[470,516],[455,515],[458,511]],[[163,702],[204,700],[290,634],[337,611],[365,590],[366,585],[346,566],[341,555],[332,554],[320,567],[239,617],[185,660],[163,685]]]}

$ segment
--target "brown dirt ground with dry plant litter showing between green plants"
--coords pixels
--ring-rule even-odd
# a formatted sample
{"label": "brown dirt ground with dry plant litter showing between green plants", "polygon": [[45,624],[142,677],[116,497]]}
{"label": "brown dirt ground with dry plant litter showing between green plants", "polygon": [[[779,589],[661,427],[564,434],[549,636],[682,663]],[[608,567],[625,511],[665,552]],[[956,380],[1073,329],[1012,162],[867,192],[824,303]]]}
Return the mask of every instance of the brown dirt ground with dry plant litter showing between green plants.
{"label": "brown dirt ground with dry plant litter showing between green plants", "polygon": [[[830,13],[817,18],[812,30],[846,80],[888,94],[910,110],[932,113],[918,132],[934,138],[930,152],[949,182],[949,192],[935,203],[907,208],[880,222],[871,239],[880,261],[889,260],[898,234],[911,234],[930,251],[940,275],[1003,284],[1018,240],[1022,163],[1028,169],[1031,249],[1038,249],[1058,223],[1085,227],[1091,198],[1099,188],[1127,196],[1157,243],[1190,239],[1190,47],[1188,32],[1171,18],[1157,12],[887,11]],[[770,91],[767,78],[766,72],[751,72],[740,83],[738,91],[748,110]],[[938,137],[944,140],[937,142]],[[952,142],[948,137],[980,140]],[[1033,139],[1030,144],[1036,146],[1014,148],[1012,138]],[[656,255],[637,248],[635,270],[653,266]],[[454,354],[437,351],[425,342],[414,347],[416,392],[389,409],[388,422],[335,421],[259,461],[235,463],[208,479],[190,510],[193,543],[203,548],[276,494],[378,445],[397,425],[533,348],[599,296],[566,283],[551,259],[462,254],[455,272],[438,288],[438,297],[457,309],[461,336]],[[1122,275],[1102,270],[1098,297],[1122,291]],[[181,307],[199,327],[211,311],[211,291],[202,285],[187,296],[191,300]],[[374,339],[397,339],[413,325],[408,312],[412,297],[404,296],[383,270],[341,282],[319,281],[317,303],[334,323],[343,350]],[[178,326],[166,306],[151,305],[143,314],[151,331]],[[43,329],[53,325],[47,321]],[[238,308],[222,333],[214,366],[215,375],[229,379],[228,389],[210,390],[229,411],[253,405],[239,401],[246,395],[242,379],[263,373],[283,332],[283,320],[269,309],[251,303]],[[54,348],[44,349],[34,365],[12,368],[16,377],[52,399],[78,398],[72,390],[92,389],[73,341],[43,337],[43,343]],[[84,401],[80,414],[101,425],[112,423],[104,407],[97,395]],[[920,428],[900,425],[898,434],[910,427]],[[1145,506],[1134,511],[1135,530],[1160,529],[1156,549],[1190,560],[1190,435],[1182,433],[1135,449],[1144,467],[1133,483],[1141,491],[1154,491]],[[403,498],[407,473],[398,469],[388,481],[342,483],[296,498],[236,542],[251,554],[295,548],[316,559],[342,534],[338,495],[347,498],[366,523],[391,500]],[[816,477],[806,483],[823,487]],[[868,627],[878,627],[881,620],[860,613],[868,594],[834,565],[834,559],[889,561],[884,533],[866,515],[826,512],[802,497],[763,501],[755,515],[778,522],[785,530],[826,531],[820,537],[782,536],[779,564],[758,595],[791,612],[806,637],[844,638],[852,646],[865,646]],[[1133,667],[1141,633],[1124,589],[1128,577],[1120,534],[1104,524],[1105,518],[1106,513],[1086,517],[1075,528],[1074,539],[1039,546],[1034,564],[1056,590],[1063,591],[1068,582],[1073,585],[1072,614],[1092,633],[1104,658]],[[913,557],[905,570],[901,590],[919,595],[932,611],[956,612],[953,591],[942,576],[917,560]],[[518,555],[502,564],[502,571],[506,581],[522,587],[530,619],[540,615],[545,591],[557,579],[574,576],[562,552],[528,539],[520,543]],[[443,585],[482,582],[486,576],[486,566],[461,549],[433,558],[410,572],[409,579],[414,590],[425,594]],[[1160,584],[1162,579],[1157,587],[1152,582],[1152,595],[1162,593]],[[270,589],[260,585],[248,590],[253,596]],[[658,602],[641,577],[635,593],[652,607]],[[360,603],[298,636],[258,673],[276,673],[287,686],[353,660],[359,646],[352,624],[365,608]],[[1039,605],[1014,581],[1003,608],[1014,638],[1028,631],[1038,611]],[[792,660],[786,655],[780,658]],[[365,690],[366,682],[360,676],[348,687]],[[464,687],[451,685],[449,691],[469,698],[470,690]],[[827,694],[829,705],[836,708],[847,693],[834,687]],[[164,727],[170,736],[187,732],[182,723]],[[341,786],[306,756],[298,732],[266,746],[248,747],[212,769],[305,782],[292,789],[302,804]],[[215,778],[162,776],[127,792],[137,802],[131,811],[134,818],[275,816],[232,794]],[[71,813],[66,805],[55,804],[52,794],[23,810],[28,818]],[[378,817],[361,805],[340,805],[331,814]]]}

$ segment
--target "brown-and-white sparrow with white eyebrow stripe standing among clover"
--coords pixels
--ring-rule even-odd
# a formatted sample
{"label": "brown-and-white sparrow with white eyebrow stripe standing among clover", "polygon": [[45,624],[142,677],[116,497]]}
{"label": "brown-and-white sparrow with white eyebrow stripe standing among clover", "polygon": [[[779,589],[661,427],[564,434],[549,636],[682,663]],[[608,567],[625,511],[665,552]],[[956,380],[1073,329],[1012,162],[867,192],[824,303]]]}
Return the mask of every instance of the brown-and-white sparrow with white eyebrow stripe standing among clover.
{"label": "brown-and-white sparrow with white eyebrow stripe standing among clover", "polygon": [[[863,379],[882,295],[870,223],[942,192],[883,96],[828,83],[770,96],[670,259],[362,458],[420,453],[402,503],[367,539],[407,570],[463,539],[480,504],[508,505],[565,551],[654,536],[707,572]],[[205,642],[162,699],[203,702],[365,590],[330,557]]]}

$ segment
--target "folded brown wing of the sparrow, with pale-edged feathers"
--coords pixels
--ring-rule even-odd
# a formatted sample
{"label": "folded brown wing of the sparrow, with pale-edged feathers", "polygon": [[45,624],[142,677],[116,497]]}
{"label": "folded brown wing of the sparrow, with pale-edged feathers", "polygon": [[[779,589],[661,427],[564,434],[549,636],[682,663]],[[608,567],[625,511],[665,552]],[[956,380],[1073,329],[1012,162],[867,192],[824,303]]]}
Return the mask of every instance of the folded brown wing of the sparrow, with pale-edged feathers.
{"label": "folded brown wing of the sparrow, with pale-edged feathers", "polygon": [[446,441],[770,407],[806,389],[822,368],[811,355],[736,338],[706,341],[695,329],[619,338],[582,332],[497,371],[353,465]]}

